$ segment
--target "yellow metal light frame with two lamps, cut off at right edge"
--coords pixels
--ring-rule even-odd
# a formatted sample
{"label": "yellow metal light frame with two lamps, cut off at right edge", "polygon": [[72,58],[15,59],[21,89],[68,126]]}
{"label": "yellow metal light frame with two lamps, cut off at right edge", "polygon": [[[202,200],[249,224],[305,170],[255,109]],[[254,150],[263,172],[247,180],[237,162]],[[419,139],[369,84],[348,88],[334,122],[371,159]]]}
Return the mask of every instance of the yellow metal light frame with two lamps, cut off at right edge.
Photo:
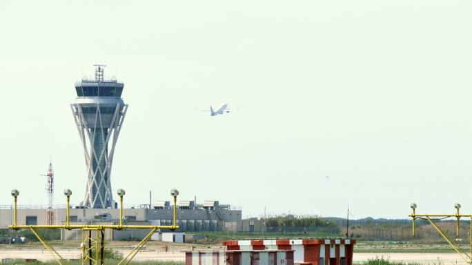
{"label": "yellow metal light frame with two lamps, cut off at right edge", "polygon": [[[454,214],[417,214],[415,212],[415,208],[412,208],[413,209],[413,213],[411,213],[411,215],[409,215],[409,217],[412,218],[412,227],[413,227],[413,237],[416,235],[416,227],[415,227],[415,221],[417,218],[421,218],[421,219],[424,219],[424,220],[428,220],[429,223],[431,224],[431,226],[433,226],[433,228],[437,231],[437,233],[439,233],[442,238],[444,238],[444,240],[446,240],[446,242],[454,249],[454,251],[456,253],[458,253],[460,255],[460,257],[462,259],[464,259],[464,261],[466,263],[469,263],[472,265],[472,215],[470,214],[460,214],[459,213],[459,207],[456,207],[457,209],[457,212],[454,213]],[[466,250],[464,250],[464,248],[461,248],[459,246],[459,244],[456,244],[453,240],[451,240],[451,238],[447,237],[446,233],[444,233],[444,231],[442,231],[438,226],[437,224],[435,224],[435,222],[433,221],[434,218],[455,218],[456,219],[456,224],[455,224],[455,236],[456,237],[459,237],[459,224],[460,224],[460,218],[470,218],[471,220],[471,226],[470,226],[470,233],[469,233],[469,247],[470,247],[470,252],[466,252]]]}

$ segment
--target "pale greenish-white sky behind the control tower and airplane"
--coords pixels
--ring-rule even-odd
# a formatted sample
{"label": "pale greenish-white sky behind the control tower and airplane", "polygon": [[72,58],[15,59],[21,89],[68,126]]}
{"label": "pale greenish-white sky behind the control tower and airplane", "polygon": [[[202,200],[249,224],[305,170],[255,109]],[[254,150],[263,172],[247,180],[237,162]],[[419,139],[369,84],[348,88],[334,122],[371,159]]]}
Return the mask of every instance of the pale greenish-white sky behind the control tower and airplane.
{"label": "pale greenish-white sky behind the control tower and airplane", "polygon": [[[243,215],[472,211],[472,2],[2,1],[0,204],[83,200],[70,103],[105,63],[128,114],[125,203],[219,200]],[[229,115],[195,108],[229,103]],[[325,178],[329,176],[329,178]]]}

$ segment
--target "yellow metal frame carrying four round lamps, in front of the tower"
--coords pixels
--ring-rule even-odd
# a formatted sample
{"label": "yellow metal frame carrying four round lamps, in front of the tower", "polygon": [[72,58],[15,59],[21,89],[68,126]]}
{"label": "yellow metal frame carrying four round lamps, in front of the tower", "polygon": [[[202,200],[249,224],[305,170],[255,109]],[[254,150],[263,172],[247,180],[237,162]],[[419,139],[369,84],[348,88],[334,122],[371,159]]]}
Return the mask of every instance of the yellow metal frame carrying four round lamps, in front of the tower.
{"label": "yellow metal frame carrying four round lamps, in front of the tower", "polygon": [[[68,192],[66,192],[68,191]],[[170,229],[176,230],[179,229],[177,225],[177,195],[179,192],[176,189],[171,191],[171,195],[174,198],[174,209],[173,209],[173,224],[166,225],[166,226],[150,226],[150,225],[124,225],[123,224],[123,195],[124,190],[119,189],[119,224],[110,224],[110,225],[101,225],[101,224],[70,224],[70,194],[72,192],[70,190],[66,190],[64,193],[67,197],[67,215],[66,215],[66,224],[57,224],[57,225],[19,225],[17,222],[17,196],[19,192],[17,190],[12,191],[12,196],[14,197],[14,209],[13,209],[13,224],[8,226],[9,229],[30,229],[33,234],[37,237],[39,242],[43,244],[44,248],[46,248],[56,259],[57,264],[59,265],[66,265],[65,259],[57,253],[57,251],[50,246],[44,240],[43,237],[36,231],[36,229],[81,229],[82,231],[82,242],[81,242],[81,265],[104,265],[105,259],[105,230],[106,229],[115,229],[115,230],[122,230],[122,229],[151,229],[148,235],[144,237],[135,248],[128,253],[118,265],[128,265],[133,257],[141,250],[141,248],[150,240],[157,229]],[[92,232],[95,232],[95,237],[92,236]]]}

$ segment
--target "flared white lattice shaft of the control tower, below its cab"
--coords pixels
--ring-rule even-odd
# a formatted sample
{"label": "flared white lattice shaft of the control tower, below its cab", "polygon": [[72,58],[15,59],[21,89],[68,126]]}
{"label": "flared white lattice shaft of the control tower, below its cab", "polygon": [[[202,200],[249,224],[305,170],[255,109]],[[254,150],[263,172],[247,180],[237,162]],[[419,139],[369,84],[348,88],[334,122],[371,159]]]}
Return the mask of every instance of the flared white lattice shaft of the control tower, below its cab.
{"label": "flared white lattice shaft of the control tower, below its cab", "polygon": [[[93,124],[88,123],[81,104],[70,105],[82,142],[88,172],[83,206],[105,209],[111,207],[113,202],[110,182],[112,161],[128,105],[115,103],[111,123],[104,122],[100,103],[88,105],[97,109],[95,114],[87,114],[95,115]],[[110,150],[108,150],[109,144]]]}

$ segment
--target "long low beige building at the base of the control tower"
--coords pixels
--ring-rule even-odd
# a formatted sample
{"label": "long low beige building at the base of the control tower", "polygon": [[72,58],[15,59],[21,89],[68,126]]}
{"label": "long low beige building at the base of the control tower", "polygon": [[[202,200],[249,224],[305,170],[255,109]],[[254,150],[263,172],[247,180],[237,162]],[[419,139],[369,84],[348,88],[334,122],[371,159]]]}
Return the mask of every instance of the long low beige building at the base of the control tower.
{"label": "long low beige building at the base of the control tower", "polygon": [[[7,229],[13,223],[13,206],[0,206],[0,229]],[[53,224],[66,223],[66,207],[54,209]],[[17,220],[20,225],[46,224],[48,209],[39,206],[18,206]],[[157,201],[152,206],[142,204],[124,209],[126,224],[170,225],[173,221],[173,205],[170,201]],[[71,206],[70,222],[75,224],[115,224],[119,222],[119,209],[91,209]],[[177,222],[179,231],[242,231],[247,225],[242,221],[242,210],[219,201],[204,201],[201,204],[191,201],[177,203]],[[74,231],[63,231],[63,240],[75,240]],[[109,239],[126,239],[126,231],[115,231]],[[121,235],[120,235],[121,234]],[[139,237],[139,235],[137,235]]]}

